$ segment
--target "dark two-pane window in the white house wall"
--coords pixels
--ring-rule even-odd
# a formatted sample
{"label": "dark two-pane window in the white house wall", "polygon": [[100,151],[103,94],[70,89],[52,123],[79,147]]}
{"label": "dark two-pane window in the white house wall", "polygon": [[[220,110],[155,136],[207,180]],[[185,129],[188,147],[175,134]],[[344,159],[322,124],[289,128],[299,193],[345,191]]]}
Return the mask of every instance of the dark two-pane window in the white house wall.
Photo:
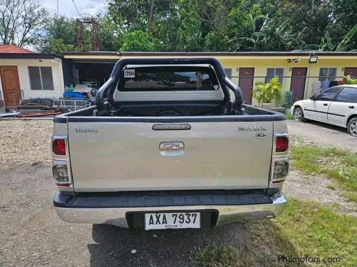
{"label": "dark two-pane window in the white house wall", "polygon": [[51,67],[28,67],[31,90],[54,90]]}

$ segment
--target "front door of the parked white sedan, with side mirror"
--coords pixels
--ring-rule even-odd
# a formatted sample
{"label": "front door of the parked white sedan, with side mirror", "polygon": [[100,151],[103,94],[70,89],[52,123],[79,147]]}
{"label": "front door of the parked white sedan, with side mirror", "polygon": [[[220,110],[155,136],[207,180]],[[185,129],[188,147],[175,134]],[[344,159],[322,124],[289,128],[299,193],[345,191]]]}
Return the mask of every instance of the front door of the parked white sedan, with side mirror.
{"label": "front door of the parked white sedan, with side mirror", "polygon": [[303,107],[305,118],[327,122],[329,105],[340,90],[341,87],[332,87],[319,93],[314,99],[311,99],[311,101],[306,101],[306,104]]}

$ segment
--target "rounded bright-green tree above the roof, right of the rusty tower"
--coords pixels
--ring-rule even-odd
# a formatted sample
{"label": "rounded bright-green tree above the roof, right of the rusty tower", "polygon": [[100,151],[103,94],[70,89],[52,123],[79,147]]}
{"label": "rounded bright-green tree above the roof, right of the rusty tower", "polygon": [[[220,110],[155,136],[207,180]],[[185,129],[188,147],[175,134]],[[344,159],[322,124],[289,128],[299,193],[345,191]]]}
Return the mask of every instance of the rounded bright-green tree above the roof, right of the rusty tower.
{"label": "rounded bright-green tree above the roof, right of the rusty tower", "polygon": [[155,50],[155,45],[150,41],[147,32],[135,30],[123,36],[123,44],[120,50],[150,52]]}

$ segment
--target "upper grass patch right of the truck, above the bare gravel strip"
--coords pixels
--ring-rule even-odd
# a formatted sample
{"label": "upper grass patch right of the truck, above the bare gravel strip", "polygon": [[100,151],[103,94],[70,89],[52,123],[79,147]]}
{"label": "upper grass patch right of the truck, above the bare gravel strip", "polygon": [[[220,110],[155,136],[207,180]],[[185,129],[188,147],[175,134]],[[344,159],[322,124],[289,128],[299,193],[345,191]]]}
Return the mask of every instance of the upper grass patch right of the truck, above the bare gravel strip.
{"label": "upper grass patch right of the truck, above the bare gravel strip", "polygon": [[357,153],[314,146],[292,146],[290,151],[294,167],[304,174],[324,174],[335,180],[341,188],[350,191],[348,198],[357,202],[354,197],[357,192]]}

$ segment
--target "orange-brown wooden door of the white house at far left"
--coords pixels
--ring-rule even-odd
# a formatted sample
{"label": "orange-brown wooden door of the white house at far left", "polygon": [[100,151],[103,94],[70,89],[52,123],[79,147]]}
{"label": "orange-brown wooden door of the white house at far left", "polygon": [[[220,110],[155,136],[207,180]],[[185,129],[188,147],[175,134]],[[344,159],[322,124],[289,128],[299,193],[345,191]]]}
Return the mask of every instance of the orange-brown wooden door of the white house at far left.
{"label": "orange-brown wooden door of the white house at far left", "polygon": [[17,66],[0,66],[0,76],[5,106],[19,105],[21,93]]}

